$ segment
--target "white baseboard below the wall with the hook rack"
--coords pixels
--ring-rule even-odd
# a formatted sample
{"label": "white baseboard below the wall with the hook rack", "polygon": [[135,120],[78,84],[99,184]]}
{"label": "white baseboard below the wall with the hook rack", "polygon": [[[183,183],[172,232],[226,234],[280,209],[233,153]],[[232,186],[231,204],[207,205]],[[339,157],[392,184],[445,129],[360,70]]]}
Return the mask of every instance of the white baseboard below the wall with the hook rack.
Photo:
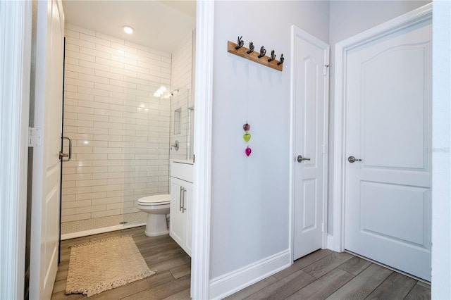
{"label": "white baseboard below the wall with the hook rack", "polygon": [[288,268],[291,264],[290,250],[287,249],[246,265],[243,268],[213,278],[210,280],[209,297],[210,299],[223,299],[280,270]]}

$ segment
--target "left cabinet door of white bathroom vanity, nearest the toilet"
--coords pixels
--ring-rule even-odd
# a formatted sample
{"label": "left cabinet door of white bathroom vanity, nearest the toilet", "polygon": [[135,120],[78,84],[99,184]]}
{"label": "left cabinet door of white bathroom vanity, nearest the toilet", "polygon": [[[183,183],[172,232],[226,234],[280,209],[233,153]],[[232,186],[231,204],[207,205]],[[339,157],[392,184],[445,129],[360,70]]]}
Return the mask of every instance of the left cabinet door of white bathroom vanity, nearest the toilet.
{"label": "left cabinet door of white bathroom vanity, nearest the toilet", "polygon": [[186,218],[185,213],[180,209],[182,206],[182,187],[183,180],[171,177],[171,218],[169,219],[169,235],[182,248],[185,240]]}

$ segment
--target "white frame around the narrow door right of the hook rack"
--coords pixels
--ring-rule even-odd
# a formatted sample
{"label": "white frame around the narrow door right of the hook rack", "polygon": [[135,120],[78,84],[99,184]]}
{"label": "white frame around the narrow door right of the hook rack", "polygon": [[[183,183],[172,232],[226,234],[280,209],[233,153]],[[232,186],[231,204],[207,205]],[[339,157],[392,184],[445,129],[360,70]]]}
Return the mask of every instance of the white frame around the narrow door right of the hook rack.
{"label": "white frame around the narrow door right of the hook rack", "polygon": [[[326,44],[326,42],[321,41],[317,37],[309,34],[309,32],[300,29],[299,27],[292,25],[291,26],[291,64],[290,64],[290,230],[289,230],[289,239],[288,239],[288,248],[290,249],[290,262],[293,262],[294,252],[295,252],[295,121],[296,121],[296,74],[295,74],[295,66],[297,63],[297,57],[295,56],[295,39],[296,37],[301,37],[307,42],[319,46],[324,51],[324,60],[329,61],[330,56],[330,46]],[[324,111],[323,111],[323,144],[326,145],[326,151],[323,153],[323,211],[321,215],[323,216],[323,237],[322,237],[322,249],[325,249],[327,246],[327,211],[328,211],[328,127],[329,127],[329,72],[328,68],[326,68],[326,75],[324,76]]]}

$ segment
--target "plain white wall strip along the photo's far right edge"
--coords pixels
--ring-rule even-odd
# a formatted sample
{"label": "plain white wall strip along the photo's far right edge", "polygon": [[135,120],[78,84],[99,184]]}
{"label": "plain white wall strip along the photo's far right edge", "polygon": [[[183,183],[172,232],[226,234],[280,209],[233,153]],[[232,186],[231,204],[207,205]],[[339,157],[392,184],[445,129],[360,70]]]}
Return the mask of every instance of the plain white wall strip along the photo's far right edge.
{"label": "plain white wall strip along the photo's far right edge", "polygon": [[432,299],[451,299],[451,2],[433,4]]}

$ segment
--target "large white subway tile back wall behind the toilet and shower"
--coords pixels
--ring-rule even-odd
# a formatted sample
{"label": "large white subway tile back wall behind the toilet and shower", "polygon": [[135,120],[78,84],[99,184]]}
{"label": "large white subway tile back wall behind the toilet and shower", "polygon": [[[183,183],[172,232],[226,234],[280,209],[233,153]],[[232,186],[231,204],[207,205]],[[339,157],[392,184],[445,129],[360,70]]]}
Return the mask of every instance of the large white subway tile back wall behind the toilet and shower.
{"label": "large white subway tile back wall behind the toilet and shower", "polygon": [[137,213],[140,197],[168,193],[171,106],[154,92],[171,90],[171,54],[66,24],[64,80],[62,223]]}

